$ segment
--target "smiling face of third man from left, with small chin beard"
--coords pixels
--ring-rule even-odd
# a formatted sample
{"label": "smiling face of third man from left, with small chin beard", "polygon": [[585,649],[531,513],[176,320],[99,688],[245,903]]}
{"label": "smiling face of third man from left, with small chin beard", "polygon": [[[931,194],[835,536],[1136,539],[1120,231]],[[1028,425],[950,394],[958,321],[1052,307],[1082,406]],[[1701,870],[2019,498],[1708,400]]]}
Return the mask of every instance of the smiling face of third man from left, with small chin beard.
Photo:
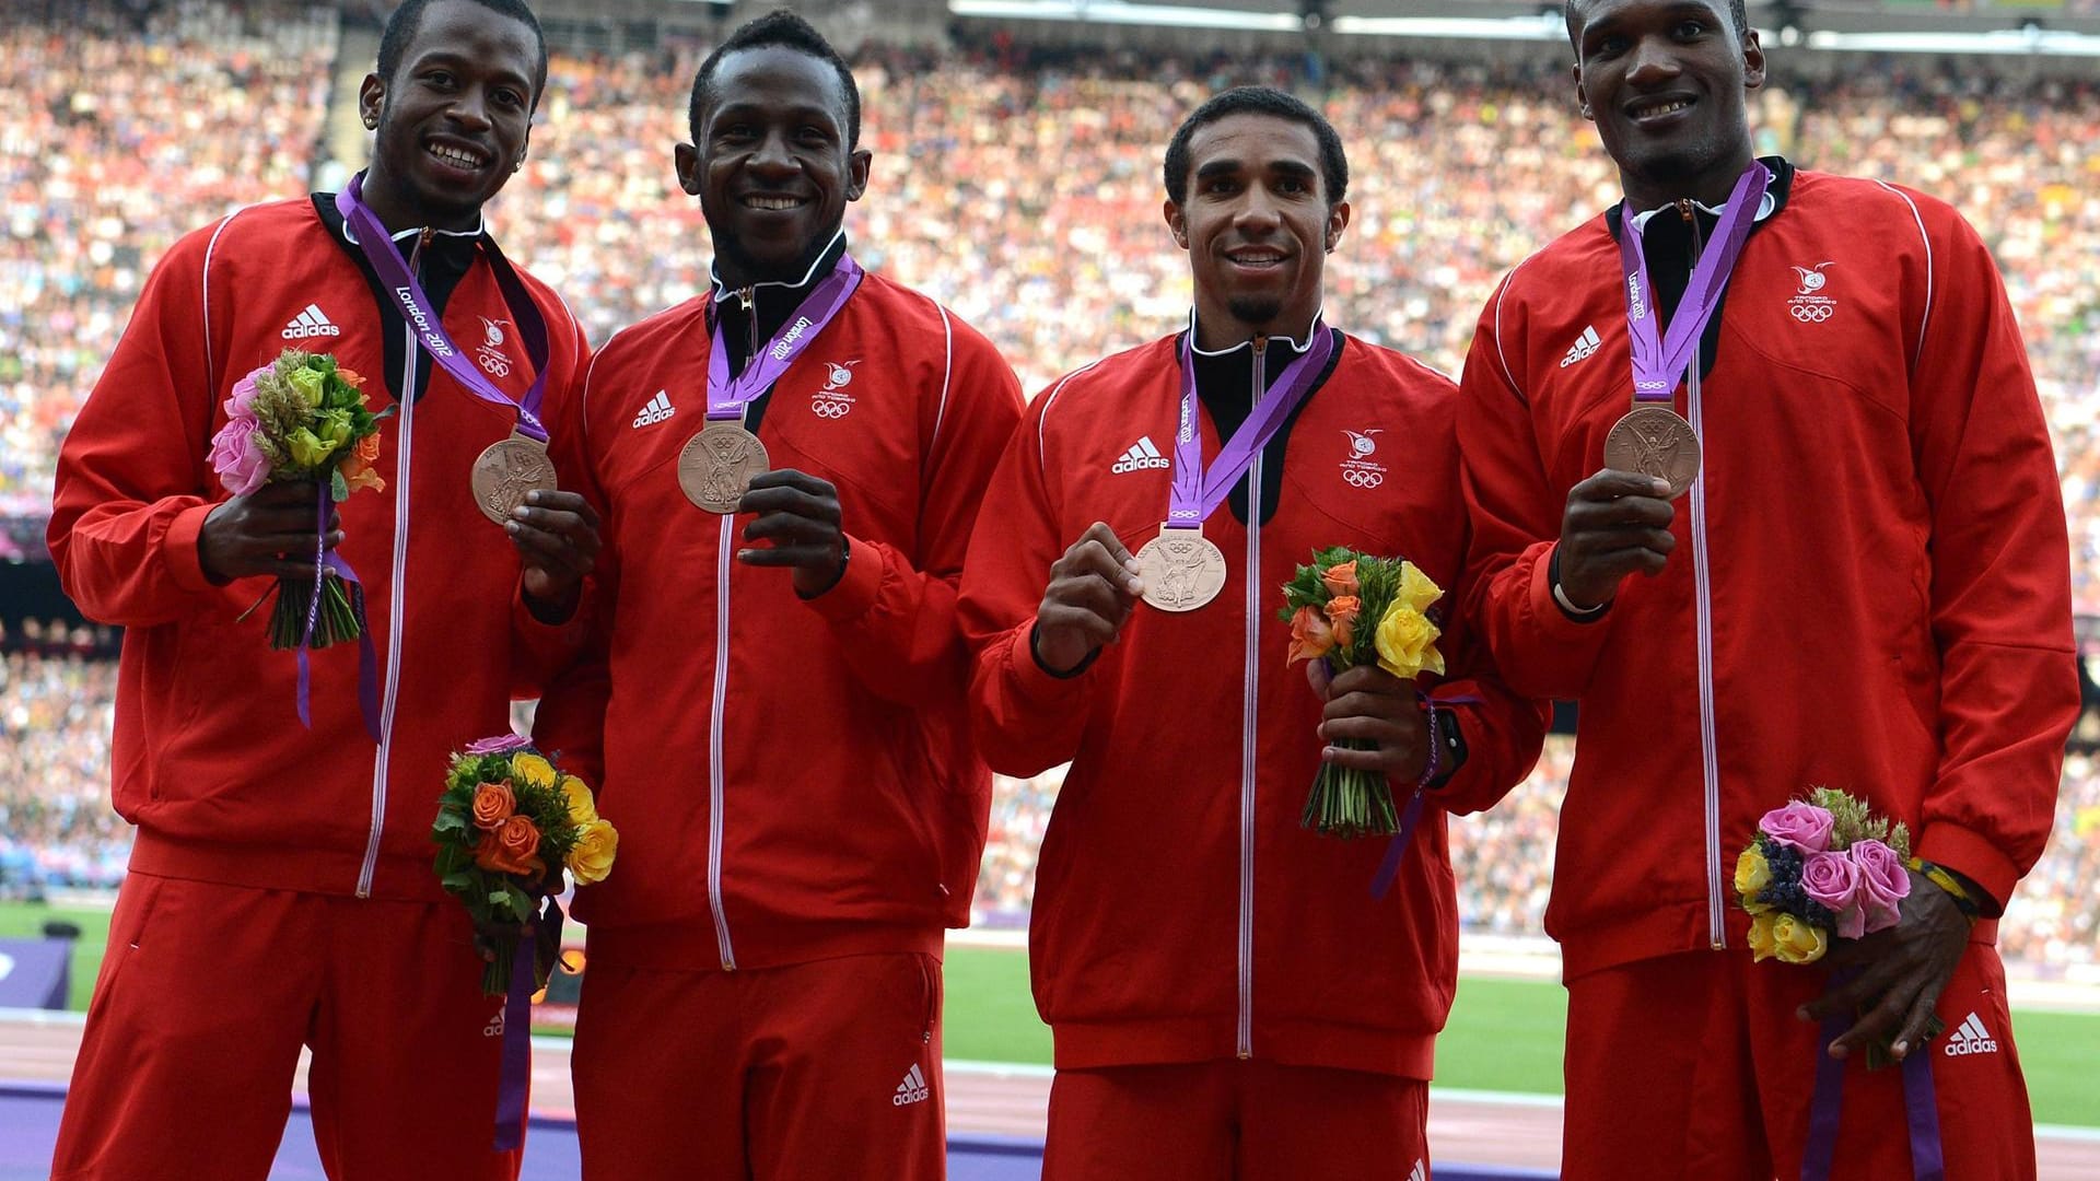
{"label": "smiling face of third man from left, with small chin beard", "polygon": [[1218,349],[1304,336],[1348,202],[1327,204],[1310,126],[1237,113],[1189,137],[1186,200],[1170,200],[1166,216],[1195,273],[1199,343]]}

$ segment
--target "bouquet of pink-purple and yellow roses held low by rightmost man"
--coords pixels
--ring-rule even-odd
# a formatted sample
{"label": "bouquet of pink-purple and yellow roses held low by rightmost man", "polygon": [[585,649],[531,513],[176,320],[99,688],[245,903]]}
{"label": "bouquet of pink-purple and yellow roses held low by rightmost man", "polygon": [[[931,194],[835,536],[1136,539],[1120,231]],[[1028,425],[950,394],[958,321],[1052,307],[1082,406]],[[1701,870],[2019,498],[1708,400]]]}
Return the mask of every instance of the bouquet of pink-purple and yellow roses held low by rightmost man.
{"label": "bouquet of pink-purple and yellow roses held low by rightmost man", "polygon": [[1735,859],[1735,893],[1751,914],[1760,960],[1812,965],[1831,939],[1858,939],[1896,925],[1911,895],[1911,832],[1875,820],[1833,788],[1764,813]]}

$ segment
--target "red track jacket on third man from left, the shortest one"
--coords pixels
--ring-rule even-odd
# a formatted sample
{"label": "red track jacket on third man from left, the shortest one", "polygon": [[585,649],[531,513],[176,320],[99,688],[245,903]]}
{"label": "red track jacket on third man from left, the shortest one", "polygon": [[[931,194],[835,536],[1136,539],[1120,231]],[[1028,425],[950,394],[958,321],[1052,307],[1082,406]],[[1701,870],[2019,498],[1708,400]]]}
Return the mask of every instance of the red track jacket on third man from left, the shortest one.
{"label": "red track jacket on third man from left, the shortest one", "polygon": [[[1373,899],[1386,841],[1298,826],[1321,702],[1285,666],[1277,607],[1292,572],[1334,544],[1407,557],[1453,586],[1466,513],[1451,380],[1342,338],[1331,374],[1250,473],[1262,511],[1243,523],[1241,500],[1205,523],[1228,567],[1218,599],[1178,616],[1140,605],[1094,664],[1054,679],[1029,647],[1050,565],[1094,521],[1136,553],[1166,517],[1172,471],[1147,460],[1176,433],[1176,340],[1035,399],[964,574],[987,759],[1014,775],[1073,761],[1035,878],[1035,1004],[1060,1068],[1237,1055],[1428,1078],[1457,977],[1445,809],[1502,799],[1537,759],[1544,719],[1445,620],[1451,679],[1436,693],[1480,698],[1455,706],[1468,759]],[[1273,370],[1281,351],[1270,343]],[[1245,403],[1252,349],[1237,355],[1250,376],[1233,397]],[[1201,424],[1208,458],[1220,446],[1208,403]],[[1396,786],[1396,801],[1409,790]]]}

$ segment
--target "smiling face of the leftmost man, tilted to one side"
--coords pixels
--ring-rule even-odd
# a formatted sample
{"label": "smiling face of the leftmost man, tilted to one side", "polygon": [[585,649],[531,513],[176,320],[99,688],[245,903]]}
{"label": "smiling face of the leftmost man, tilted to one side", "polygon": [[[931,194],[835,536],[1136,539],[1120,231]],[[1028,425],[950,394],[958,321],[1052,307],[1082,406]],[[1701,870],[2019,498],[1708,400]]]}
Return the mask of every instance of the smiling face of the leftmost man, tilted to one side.
{"label": "smiling face of the leftmost man, tilted to one side", "polygon": [[393,229],[470,229],[525,158],[538,42],[525,21],[472,0],[422,13],[393,78],[357,92],[378,130],[365,202]]}

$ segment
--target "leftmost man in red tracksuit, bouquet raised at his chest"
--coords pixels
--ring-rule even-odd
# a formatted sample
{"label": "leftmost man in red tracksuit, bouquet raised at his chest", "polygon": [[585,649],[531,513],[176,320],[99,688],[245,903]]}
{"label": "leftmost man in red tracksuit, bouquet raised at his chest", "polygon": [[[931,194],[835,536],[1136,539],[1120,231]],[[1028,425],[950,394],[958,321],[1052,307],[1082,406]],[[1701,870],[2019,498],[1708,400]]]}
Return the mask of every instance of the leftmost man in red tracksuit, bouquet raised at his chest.
{"label": "leftmost man in red tracksuit, bouquet raised at his chest", "polygon": [[[514,322],[546,322],[550,385],[586,355],[481,225],[544,69],[514,0],[412,0],[359,95],[378,130],[363,200],[395,235],[376,248],[399,250],[508,399],[536,376]],[[206,456],[229,389],[288,347],[332,353],[397,410],[386,488],[344,500],[328,534],[363,580],[378,742],[359,645],[313,654],[309,729],[294,656],[242,618],[275,576],[311,576],[315,490],[227,498]],[[512,689],[580,639],[556,624],[596,548],[588,506],[542,494],[506,536],[475,504],[475,458],[517,422],[416,347],[332,195],[239,210],[153,271],[65,439],[50,519],[67,593],[126,628],[111,763],[139,826],[55,1177],[265,1177],[300,1044],[330,1177],[517,1175],[491,1152],[502,1000],[430,872],[447,752],[508,729]]]}

